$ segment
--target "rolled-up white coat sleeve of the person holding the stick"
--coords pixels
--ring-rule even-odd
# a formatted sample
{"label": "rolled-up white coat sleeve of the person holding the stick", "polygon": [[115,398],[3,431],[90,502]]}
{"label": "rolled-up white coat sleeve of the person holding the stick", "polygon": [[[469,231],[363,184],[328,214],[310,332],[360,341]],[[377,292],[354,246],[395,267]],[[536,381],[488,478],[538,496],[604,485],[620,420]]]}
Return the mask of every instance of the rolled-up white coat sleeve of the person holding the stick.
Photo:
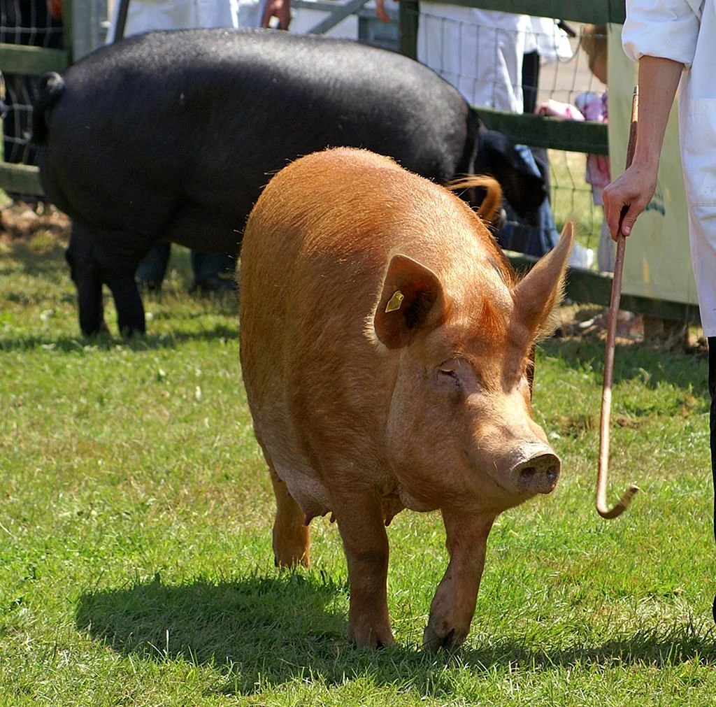
{"label": "rolled-up white coat sleeve of the person holding the stick", "polygon": [[680,62],[689,69],[696,52],[700,16],[694,0],[627,0],[621,44],[628,57],[644,54]]}

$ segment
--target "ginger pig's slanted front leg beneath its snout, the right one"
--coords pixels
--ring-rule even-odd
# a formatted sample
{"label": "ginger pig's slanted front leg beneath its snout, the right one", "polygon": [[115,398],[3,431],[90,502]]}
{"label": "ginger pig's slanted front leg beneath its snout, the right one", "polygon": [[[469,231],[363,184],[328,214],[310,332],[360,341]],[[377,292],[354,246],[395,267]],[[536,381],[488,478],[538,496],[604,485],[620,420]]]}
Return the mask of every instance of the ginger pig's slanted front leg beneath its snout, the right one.
{"label": "ginger pig's slanted front leg beneath its snout, the right one", "polygon": [[495,517],[442,511],[450,564],[430,605],[430,619],[422,637],[427,650],[456,647],[468,635]]}

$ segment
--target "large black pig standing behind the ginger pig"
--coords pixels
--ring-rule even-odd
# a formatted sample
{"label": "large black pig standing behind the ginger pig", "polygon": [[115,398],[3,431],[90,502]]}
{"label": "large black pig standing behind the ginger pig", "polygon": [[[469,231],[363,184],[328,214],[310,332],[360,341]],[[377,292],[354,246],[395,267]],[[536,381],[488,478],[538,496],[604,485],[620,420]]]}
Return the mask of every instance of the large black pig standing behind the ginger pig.
{"label": "large black pig standing behind the ginger pig", "polygon": [[[238,254],[261,189],[300,155],[368,148],[445,182],[490,140],[455,88],[400,54],[226,29],[142,34],[45,74],[33,130],[42,186],[73,221],[85,335],[106,328],[102,284],[120,331],[145,331],[134,274],[156,241]],[[543,201],[513,150],[481,152],[518,213]]]}

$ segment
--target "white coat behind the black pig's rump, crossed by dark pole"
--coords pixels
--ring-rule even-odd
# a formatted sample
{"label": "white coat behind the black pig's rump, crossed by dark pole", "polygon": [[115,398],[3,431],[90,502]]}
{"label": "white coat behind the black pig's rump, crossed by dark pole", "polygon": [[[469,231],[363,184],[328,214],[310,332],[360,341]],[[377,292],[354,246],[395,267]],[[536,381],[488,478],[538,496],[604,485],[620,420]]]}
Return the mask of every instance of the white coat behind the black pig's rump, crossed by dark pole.
{"label": "white coat behind the black pig's rump, crossed by dark pole", "polygon": [[[110,19],[107,42],[114,41],[119,0]],[[263,0],[130,0],[125,37],[155,29],[261,27]]]}

